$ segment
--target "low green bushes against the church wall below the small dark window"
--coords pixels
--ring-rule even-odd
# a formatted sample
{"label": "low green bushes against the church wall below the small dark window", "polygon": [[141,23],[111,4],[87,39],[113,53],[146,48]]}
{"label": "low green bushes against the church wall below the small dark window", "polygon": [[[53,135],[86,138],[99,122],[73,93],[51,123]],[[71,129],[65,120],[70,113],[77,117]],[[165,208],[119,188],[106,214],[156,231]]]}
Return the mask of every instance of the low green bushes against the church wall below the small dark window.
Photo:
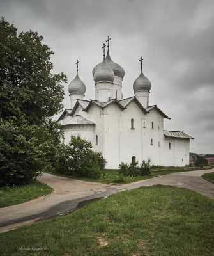
{"label": "low green bushes against the church wall below the small dark window", "polygon": [[151,174],[150,159],[148,161],[142,161],[141,166],[138,162],[133,161],[132,163],[121,163],[119,164],[119,175],[124,176],[144,176]]}

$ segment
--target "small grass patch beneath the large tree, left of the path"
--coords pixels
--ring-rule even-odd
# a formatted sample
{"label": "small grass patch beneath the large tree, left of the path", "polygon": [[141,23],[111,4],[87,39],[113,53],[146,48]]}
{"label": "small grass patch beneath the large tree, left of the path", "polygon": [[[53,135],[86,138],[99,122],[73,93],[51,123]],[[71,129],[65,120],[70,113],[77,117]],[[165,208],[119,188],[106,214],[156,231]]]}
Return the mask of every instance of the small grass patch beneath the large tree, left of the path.
{"label": "small grass patch beneath the large tree, left of the path", "polygon": [[0,207],[21,204],[51,193],[52,188],[40,182],[0,189]]}

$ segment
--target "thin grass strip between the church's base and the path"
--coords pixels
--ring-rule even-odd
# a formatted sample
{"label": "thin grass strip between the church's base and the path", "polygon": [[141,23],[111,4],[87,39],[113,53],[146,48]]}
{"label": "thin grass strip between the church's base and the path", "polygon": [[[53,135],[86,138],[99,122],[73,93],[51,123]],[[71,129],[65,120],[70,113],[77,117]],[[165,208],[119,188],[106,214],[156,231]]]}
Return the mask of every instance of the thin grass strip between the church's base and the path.
{"label": "thin grass strip between the church's base and the path", "polygon": [[85,178],[85,177],[76,177],[76,176],[72,176],[72,175],[62,175],[60,173],[53,173],[53,172],[49,172],[52,175],[57,175],[57,176],[63,176],[63,177],[67,177],[70,179],[77,179],[77,180],[86,180],[86,181],[92,181],[92,182],[101,182],[101,183],[130,183],[130,182],[135,182],[135,181],[139,181],[139,180],[146,180],[146,179],[151,179],[154,177],[158,177],[160,175],[166,175],[169,173],[173,173],[173,172],[187,172],[187,171],[191,171],[190,169],[183,169],[183,168],[175,168],[175,169],[171,169],[171,170],[154,170],[154,172],[151,172],[151,175],[145,175],[145,176],[137,176],[137,177],[123,177],[123,182],[119,182],[119,172],[116,170],[103,170],[101,173],[101,177],[99,179],[90,179],[90,178]]}

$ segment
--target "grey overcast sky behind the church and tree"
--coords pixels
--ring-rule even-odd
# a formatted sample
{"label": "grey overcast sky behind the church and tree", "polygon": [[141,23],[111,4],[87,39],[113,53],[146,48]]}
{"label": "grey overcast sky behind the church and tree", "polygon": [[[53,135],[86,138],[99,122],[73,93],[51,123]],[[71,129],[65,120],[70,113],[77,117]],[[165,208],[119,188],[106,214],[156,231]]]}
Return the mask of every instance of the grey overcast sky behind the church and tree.
{"label": "grey overcast sky behind the church and tree", "polygon": [[95,99],[92,70],[108,35],[111,58],[125,69],[124,99],[134,95],[142,56],[149,104],[171,118],[164,129],[193,136],[191,152],[214,154],[213,0],[0,0],[0,15],[19,31],[38,31],[55,53],[53,72],[69,83],[78,58],[86,100]]}

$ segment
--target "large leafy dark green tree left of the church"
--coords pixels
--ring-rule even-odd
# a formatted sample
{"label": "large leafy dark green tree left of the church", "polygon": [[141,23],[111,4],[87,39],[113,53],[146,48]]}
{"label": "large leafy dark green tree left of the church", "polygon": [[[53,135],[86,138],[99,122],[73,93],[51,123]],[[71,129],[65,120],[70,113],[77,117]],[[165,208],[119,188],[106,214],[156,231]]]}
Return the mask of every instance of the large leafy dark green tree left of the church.
{"label": "large leafy dark green tree left of the church", "polygon": [[52,116],[63,109],[65,74],[37,32],[0,21],[0,186],[25,184],[50,164],[60,140]]}

